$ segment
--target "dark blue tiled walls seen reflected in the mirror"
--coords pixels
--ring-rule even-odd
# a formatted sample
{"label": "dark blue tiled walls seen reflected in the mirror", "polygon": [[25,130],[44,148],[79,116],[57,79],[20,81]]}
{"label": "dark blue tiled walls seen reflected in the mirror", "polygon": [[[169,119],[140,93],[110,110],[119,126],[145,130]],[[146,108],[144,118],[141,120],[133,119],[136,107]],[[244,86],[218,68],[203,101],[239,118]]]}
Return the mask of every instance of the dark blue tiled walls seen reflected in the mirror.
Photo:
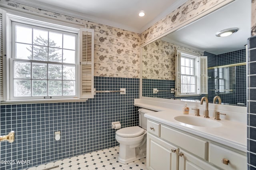
{"label": "dark blue tiled walls seen reflected in the mirror", "polygon": [[[246,50],[237,50],[234,52],[228,52],[224,54],[211,54],[204,52],[204,56],[208,56],[208,67],[221,66],[226,64],[234,64],[246,61]],[[233,92],[228,94],[215,93],[212,89],[215,87],[215,71],[214,69],[208,70],[208,100],[213,102],[214,96],[218,95],[221,97],[223,103],[237,104],[242,103],[246,106],[246,66],[236,66],[232,88]],[[231,73],[230,73],[231,75]],[[176,97],[174,93],[167,92],[171,88],[175,88],[175,80],[154,80],[154,79],[142,79],[142,96],[155,97],[155,98],[169,98],[169,99],[182,99],[184,97]],[[158,90],[164,90],[164,92],[158,92],[153,94],[153,88]],[[185,97],[188,100],[200,100],[202,96],[190,96]]]}

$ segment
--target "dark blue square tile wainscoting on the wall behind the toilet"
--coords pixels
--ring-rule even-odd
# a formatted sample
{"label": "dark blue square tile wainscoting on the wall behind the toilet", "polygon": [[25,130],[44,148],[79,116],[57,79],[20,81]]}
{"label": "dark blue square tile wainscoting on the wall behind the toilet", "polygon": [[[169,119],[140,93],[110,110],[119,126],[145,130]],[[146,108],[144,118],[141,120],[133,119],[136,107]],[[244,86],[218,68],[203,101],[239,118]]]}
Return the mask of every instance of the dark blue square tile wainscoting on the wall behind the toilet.
{"label": "dark blue square tile wainscoting on the wall behind the toilet", "polygon": [[[116,130],[138,125],[138,78],[94,77],[96,90],[120,90],[96,93],[85,102],[13,104],[1,106],[1,134],[16,132],[13,143],[1,143],[1,160],[24,160],[29,164],[1,164],[0,170],[20,170],[48,162],[118,146]],[[60,131],[60,140],[54,132]]]}

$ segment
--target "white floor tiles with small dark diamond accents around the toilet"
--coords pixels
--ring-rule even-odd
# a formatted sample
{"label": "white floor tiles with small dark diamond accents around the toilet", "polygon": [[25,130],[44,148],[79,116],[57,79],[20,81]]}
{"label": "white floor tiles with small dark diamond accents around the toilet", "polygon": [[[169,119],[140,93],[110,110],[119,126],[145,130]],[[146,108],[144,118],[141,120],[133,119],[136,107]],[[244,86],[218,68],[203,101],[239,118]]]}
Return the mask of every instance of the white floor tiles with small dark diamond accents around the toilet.
{"label": "white floor tiles with small dark diamond accents around the toilet", "polygon": [[[119,146],[50,162],[27,170],[147,170],[146,158],[129,164],[118,162]],[[57,168],[53,168],[58,166]]]}

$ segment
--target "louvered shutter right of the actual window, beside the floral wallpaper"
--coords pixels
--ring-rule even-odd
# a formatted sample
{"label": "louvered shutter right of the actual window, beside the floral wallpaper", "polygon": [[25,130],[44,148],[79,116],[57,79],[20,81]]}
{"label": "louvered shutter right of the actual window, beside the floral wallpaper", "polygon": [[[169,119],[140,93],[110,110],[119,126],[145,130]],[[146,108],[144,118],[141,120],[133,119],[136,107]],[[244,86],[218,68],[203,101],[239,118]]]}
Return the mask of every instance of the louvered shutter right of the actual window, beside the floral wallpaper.
{"label": "louvered shutter right of the actual window, beside the floral wallpaper", "polygon": [[80,29],[80,98],[94,97],[94,30]]}

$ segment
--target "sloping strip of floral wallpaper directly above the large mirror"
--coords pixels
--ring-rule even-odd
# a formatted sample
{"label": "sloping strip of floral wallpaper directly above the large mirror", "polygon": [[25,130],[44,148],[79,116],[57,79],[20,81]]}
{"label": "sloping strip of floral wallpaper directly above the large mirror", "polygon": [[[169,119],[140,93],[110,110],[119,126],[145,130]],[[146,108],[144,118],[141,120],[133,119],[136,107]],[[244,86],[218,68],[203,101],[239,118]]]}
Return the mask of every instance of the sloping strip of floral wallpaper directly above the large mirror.
{"label": "sloping strip of floral wallpaper directly above the large mirror", "polygon": [[202,17],[233,0],[188,0],[162,20],[142,32],[142,44],[150,42],[166,32],[176,30]]}

